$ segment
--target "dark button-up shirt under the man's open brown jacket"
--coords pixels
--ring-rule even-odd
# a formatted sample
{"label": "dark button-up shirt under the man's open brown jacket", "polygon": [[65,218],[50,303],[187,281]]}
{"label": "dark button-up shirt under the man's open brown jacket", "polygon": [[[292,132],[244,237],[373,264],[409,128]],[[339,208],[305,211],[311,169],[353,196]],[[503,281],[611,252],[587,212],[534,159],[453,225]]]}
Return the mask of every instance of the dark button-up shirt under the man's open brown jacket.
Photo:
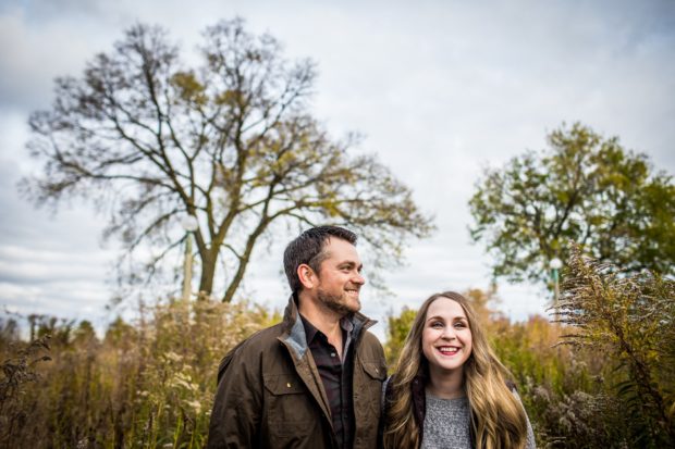
{"label": "dark button-up shirt under the man's open brown jacket", "polygon": [[343,360],[335,347],[328,342],[328,337],[317,329],[310,322],[303,320],[307,346],[311,351],[323,389],[331,408],[333,431],[340,448],[351,448],[354,439],[354,401],[352,397],[352,373],[354,366],[354,351],[351,350],[353,324],[348,319],[342,319],[342,341],[344,345]]}

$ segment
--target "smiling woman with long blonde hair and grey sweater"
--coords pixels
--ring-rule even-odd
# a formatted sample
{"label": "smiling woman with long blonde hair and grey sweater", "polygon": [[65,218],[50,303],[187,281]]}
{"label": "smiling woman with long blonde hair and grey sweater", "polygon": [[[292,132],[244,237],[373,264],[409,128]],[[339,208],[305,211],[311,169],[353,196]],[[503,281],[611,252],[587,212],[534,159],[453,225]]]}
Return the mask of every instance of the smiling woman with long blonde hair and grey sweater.
{"label": "smiling woman with long blonde hair and grey sweater", "polygon": [[469,301],[425,301],[388,379],[382,442],[389,448],[533,448],[527,414]]}

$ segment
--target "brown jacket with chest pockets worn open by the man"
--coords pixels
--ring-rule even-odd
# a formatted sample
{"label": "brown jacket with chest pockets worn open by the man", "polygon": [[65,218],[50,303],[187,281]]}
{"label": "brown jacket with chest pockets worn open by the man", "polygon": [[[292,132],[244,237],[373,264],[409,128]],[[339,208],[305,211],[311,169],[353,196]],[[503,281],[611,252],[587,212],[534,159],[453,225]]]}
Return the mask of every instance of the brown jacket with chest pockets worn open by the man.
{"label": "brown jacket with chest pockets worn open by the man", "polygon": [[[377,448],[384,353],[353,319],[354,448]],[[283,322],[237,345],[220,364],[208,448],[336,448],[330,406],[293,297]]]}

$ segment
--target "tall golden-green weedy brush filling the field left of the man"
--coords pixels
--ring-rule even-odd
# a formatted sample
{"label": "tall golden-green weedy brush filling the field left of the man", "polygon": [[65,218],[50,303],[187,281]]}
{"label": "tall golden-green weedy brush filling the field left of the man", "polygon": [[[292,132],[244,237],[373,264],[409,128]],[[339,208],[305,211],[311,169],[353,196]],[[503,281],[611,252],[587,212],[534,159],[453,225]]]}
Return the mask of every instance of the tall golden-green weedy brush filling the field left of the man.
{"label": "tall golden-green weedy brush filling the field left of the man", "polygon": [[[2,426],[2,447],[202,447],[220,359],[278,320],[247,303],[172,301],[142,307],[131,324],[115,320],[99,340],[88,322],[42,317],[34,336],[46,338],[45,328],[59,336],[52,360],[32,365],[24,354],[30,382],[11,413],[2,404],[2,420],[24,420]],[[17,362],[4,348],[0,356],[4,386],[14,378],[5,366]]]}

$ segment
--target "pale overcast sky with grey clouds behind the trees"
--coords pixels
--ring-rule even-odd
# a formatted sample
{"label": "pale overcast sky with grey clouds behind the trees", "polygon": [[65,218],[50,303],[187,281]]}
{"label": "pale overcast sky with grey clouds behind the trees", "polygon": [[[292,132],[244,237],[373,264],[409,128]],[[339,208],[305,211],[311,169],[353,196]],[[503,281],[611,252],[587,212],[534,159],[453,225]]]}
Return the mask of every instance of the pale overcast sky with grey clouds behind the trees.
{"label": "pale overcast sky with grey clouds behind the trees", "polygon": [[[442,289],[489,285],[489,258],[469,242],[467,200],[486,165],[544,147],[547,133],[581,121],[675,173],[673,1],[131,1],[0,3],[0,304],[20,313],[88,319],[110,312],[115,245],[105,215],[63,203],[57,214],[24,203],[30,111],[48,108],[53,78],[82,73],[136,22],[167,27],[194,58],[200,32],[242,16],[269,32],[287,58],[311,58],[312,110],[335,137],[356,130],[435,215],[406,265],[385,276],[394,297],[364,289],[364,312],[383,320]],[[260,246],[244,291],[282,308],[284,241]],[[544,313],[539,286],[500,284],[514,320]],[[115,312],[113,312],[115,313]],[[375,330],[383,335],[383,326]]]}

